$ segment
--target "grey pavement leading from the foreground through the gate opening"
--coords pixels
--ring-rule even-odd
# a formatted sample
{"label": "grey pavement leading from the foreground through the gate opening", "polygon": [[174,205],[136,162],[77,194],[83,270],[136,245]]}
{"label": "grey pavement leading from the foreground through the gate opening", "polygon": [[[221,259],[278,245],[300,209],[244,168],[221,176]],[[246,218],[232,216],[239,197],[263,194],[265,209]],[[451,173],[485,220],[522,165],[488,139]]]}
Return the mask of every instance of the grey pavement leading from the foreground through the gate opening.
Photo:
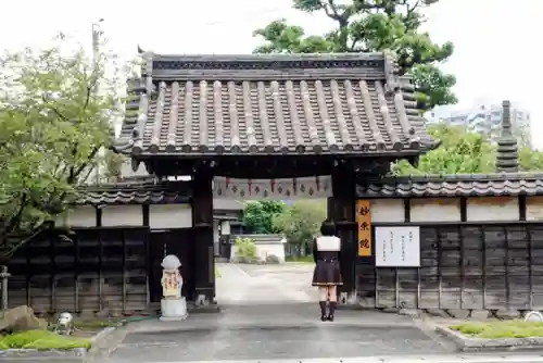
{"label": "grey pavement leading from the foreground through the gate opening", "polygon": [[333,362],[339,356],[452,352],[408,316],[342,310],[336,322],[320,322],[311,265],[222,264],[219,272],[220,313],[192,314],[181,323],[130,324],[103,362]]}

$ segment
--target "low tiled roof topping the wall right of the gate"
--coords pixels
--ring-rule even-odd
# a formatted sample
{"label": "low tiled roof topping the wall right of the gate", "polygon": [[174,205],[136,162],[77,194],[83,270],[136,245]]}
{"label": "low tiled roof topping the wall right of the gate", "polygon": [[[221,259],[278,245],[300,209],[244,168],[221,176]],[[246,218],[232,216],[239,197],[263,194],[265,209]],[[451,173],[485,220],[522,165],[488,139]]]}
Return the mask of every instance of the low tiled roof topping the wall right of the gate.
{"label": "low tiled roof topping the wall right of the gate", "polygon": [[358,198],[543,196],[543,174],[390,177],[356,187]]}

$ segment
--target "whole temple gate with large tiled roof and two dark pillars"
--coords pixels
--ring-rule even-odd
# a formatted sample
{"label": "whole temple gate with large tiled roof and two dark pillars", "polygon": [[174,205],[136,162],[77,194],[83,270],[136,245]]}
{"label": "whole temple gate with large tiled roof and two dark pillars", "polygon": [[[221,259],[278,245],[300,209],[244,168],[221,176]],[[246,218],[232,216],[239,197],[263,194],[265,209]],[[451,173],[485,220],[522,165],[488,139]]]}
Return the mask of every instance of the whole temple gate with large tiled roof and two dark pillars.
{"label": "whole temple gate with large tiled roof and two dark pillars", "polygon": [[[382,52],[141,57],[115,148],[157,177],[192,177],[198,301],[214,299],[214,192],[270,198],[262,179],[290,179],[283,199],[302,186],[308,196],[320,192],[303,178],[329,180],[328,215],[344,252],[342,292],[354,292],[356,178],[382,176],[391,162],[438,146],[394,59]],[[227,179],[242,179],[245,188],[228,189]]]}

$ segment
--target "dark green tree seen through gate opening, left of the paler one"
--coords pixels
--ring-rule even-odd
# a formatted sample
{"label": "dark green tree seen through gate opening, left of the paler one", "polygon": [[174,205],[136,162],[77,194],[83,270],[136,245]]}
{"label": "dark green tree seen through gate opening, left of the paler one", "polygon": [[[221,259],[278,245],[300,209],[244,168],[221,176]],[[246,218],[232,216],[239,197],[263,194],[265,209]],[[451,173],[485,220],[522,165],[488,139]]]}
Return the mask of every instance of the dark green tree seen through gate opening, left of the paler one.
{"label": "dark green tree seen through gate opening, left of the paler one", "polygon": [[278,229],[274,226],[274,218],[285,212],[282,201],[262,200],[247,203],[243,209],[243,222],[249,231],[253,234],[275,234]]}

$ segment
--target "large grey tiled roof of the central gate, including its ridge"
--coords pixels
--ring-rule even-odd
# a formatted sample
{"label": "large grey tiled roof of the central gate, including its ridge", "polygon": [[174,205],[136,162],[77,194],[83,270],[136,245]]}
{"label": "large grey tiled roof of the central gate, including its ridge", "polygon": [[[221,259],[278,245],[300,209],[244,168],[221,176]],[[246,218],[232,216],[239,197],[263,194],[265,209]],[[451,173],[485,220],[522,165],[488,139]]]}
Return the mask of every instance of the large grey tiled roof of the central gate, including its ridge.
{"label": "large grey tiled roof of the central gate, including its ridge", "polygon": [[437,146],[384,53],[143,57],[119,152],[418,154]]}

